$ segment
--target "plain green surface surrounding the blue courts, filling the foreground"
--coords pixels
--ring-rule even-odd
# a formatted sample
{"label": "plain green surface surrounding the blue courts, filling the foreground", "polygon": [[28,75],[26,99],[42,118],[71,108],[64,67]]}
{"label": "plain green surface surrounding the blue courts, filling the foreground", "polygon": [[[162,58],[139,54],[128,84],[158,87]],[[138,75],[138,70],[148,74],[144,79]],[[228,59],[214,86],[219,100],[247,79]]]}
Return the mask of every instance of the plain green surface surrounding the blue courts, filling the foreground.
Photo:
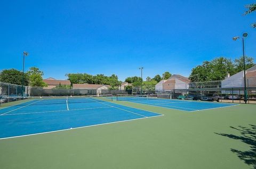
{"label": "plain green surface surrounding the blue courts, filling the foreground", "polygon": [[114,103],[164,116],[3,139],[0,168],[256,168],[256,105]]}

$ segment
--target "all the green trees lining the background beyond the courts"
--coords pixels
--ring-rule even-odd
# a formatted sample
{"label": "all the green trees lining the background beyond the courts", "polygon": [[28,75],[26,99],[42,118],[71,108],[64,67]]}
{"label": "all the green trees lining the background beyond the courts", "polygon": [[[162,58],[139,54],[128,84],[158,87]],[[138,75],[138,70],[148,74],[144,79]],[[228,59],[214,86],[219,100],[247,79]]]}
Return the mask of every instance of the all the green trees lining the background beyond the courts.
{"label": "all the green trees lining the background beyond the courts", "polygon": [[[254,66],[253,57],[245,56],[245,69]],[[204,61],[201,65],[197,65],[191,70],[189,79],[191,82],[205,82],[205,81],[218,81],[223,80],[227,73],[233,75],[243,70],[243,57],[236,58],[234,61],[227,57],[217,57],[212,61]],[[43,71],[37,67],[30,67],[24,74],[25,86],[45,87],[47,84],[43,82]],[[131,83],[132,87],[142,87],[145,90],[153,90],[154,86],[161,80],[166,80],[171,77],[170,72],[164,72],[161,75],[156,74],[153,78],[147,77],[146,81],[141,80],[141,77],[127,77],[125,82]],[[109,77],[104,74],[91,75],[87,73],[67,73],[66,77],[70,80],[71,85],[74,83],[89,83],[98,85],[110,85],[111,89],[117,89],[121,86],[122,81],[118,80],[116,74]],[[22,85],[22,72],[15,69],[2,70],[0,72],[0,81]],[[127,87],[131,88],[131,87]]]}

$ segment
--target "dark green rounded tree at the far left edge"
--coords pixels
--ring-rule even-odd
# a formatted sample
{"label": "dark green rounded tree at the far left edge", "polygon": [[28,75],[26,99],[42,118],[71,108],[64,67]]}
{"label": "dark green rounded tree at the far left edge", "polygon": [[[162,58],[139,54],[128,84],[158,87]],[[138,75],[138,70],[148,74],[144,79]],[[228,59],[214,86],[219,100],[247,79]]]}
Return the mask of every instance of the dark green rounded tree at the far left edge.
{"label": "dark green rounded tree at the far left edge", "polygon": [[[5,69],[0,72],[0,81],[15,85],[22,85],[22,72],[16,69]],[[24,73],[24,86],[28,86],[28,75]]]}

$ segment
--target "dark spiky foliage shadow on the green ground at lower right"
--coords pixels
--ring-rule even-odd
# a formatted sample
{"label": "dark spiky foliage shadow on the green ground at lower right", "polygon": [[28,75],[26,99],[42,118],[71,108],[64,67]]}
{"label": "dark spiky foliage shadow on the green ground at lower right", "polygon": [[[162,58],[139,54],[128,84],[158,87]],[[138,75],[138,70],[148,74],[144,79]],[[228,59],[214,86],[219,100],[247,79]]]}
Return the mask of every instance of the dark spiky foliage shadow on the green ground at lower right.
{"label": "dark spiky foliage shadow on the green ground at lower right", "polygon": [[256,169],[256,125],[250,124],[249,127],[238,126],[237,128],[230,126],[230,128],[239,131],[240,135],[235,136],[234,134],[225,133],[215,134],[239,140],[249,145],[249,150],[241,151],[234,148],[231,148],[230,150],[233,153],[236,153],[237,156],[244,161],[244,163],[251,165],[253,169]]}

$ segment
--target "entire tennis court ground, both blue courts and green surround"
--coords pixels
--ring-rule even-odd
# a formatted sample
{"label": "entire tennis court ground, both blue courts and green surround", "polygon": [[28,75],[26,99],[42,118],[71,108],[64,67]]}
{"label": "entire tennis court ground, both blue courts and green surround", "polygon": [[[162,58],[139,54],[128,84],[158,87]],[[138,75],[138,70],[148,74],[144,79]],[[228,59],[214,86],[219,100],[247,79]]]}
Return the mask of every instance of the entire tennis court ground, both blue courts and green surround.
{"label": "entire tennis court ground, both blue courts and green surround", "polygon": [[[161,106],[199,103],[211,109],[186,113],[192,110]],[[248,134],[255,136],[255,105],[199,103],[151,95],[17,98],[0,107],[0,164],[8,169],[251,168],[255,146],[247,140]]]}

